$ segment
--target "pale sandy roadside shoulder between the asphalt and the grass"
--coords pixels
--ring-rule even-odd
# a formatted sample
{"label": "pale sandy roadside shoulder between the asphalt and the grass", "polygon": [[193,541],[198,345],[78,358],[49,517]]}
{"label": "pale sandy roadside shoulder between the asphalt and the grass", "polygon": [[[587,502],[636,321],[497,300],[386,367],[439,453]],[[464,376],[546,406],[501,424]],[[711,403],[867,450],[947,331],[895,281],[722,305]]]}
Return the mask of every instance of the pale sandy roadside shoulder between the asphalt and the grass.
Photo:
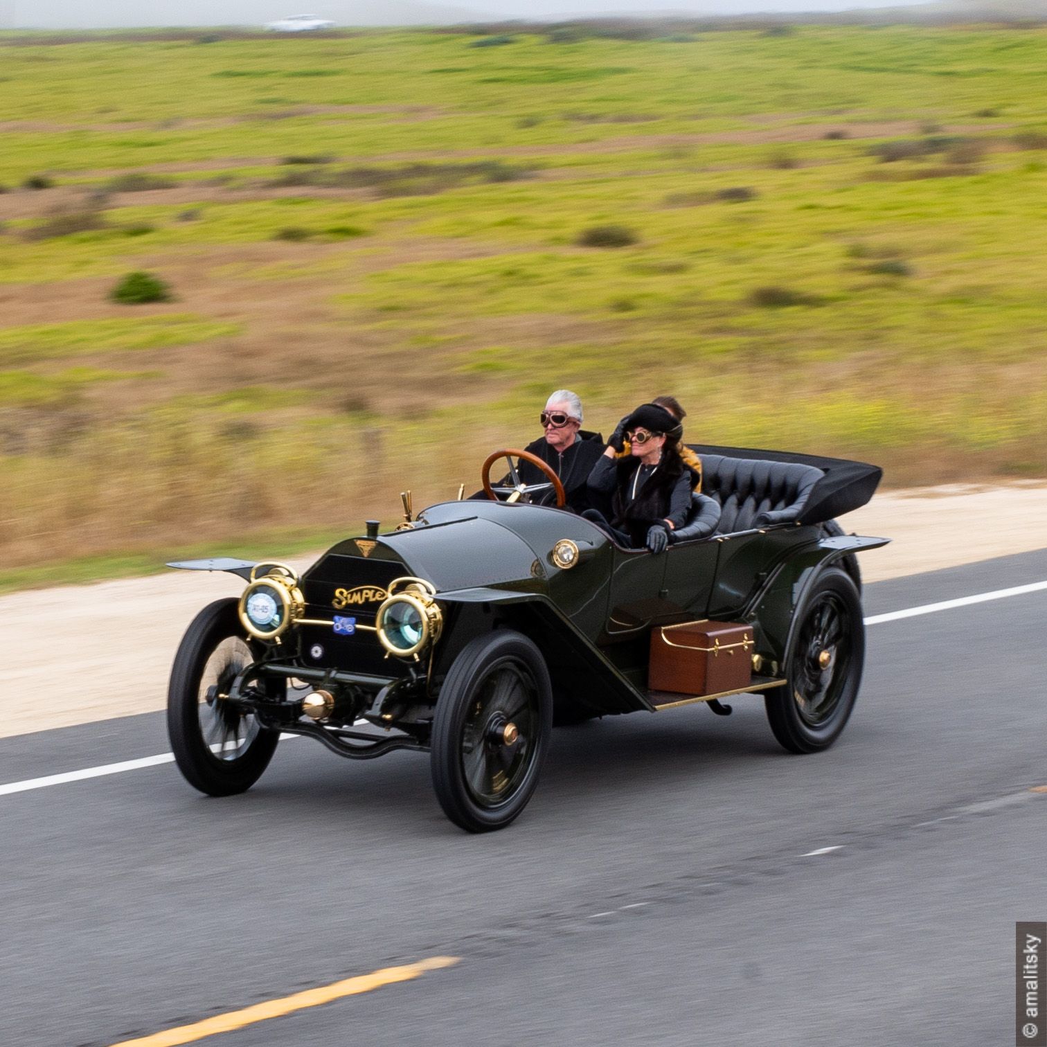
{"label": "pale sandy roadside shoulder between the asphalt and the grass", "polygon": [[[887,492],[841,524],[893,539],[862,557],[868,581],[936,571],[1047,548],[1047,485]],[[0,737],[162,709],[190,620],[241,588],[233,575],[171,572],[0,597],[17,656],[0,693]]]}

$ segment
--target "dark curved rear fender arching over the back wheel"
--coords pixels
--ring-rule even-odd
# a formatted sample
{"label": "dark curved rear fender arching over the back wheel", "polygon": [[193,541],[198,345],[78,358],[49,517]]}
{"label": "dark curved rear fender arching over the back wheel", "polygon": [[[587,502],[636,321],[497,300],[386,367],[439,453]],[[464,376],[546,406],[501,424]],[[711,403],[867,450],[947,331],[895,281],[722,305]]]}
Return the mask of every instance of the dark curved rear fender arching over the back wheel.
{"label": "dark curved rear fender arching over the back wheel", "polygon": [[847,553],[879,549],[890,540],[852,534],[822,538],[780,563],[744,616],[753,624],[759,653],[781,666],[793,638],[797,608],[822,571]]}

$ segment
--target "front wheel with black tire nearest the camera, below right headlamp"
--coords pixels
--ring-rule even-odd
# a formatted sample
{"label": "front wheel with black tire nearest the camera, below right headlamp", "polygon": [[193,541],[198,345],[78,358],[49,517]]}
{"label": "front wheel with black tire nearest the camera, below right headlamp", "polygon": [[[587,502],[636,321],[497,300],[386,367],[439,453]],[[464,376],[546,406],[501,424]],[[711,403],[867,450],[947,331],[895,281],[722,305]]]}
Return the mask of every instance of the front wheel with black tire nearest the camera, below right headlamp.
{"label": "front wheel with black tire nearest the camera, below right headlamp", "polygon": [[[553,722],[549,670],[510,629],[471,640],[437,699],[430,761],[444,814],[469,832],[505,828],[538,784]],[[504,740],[508,725],[518,736]]]}

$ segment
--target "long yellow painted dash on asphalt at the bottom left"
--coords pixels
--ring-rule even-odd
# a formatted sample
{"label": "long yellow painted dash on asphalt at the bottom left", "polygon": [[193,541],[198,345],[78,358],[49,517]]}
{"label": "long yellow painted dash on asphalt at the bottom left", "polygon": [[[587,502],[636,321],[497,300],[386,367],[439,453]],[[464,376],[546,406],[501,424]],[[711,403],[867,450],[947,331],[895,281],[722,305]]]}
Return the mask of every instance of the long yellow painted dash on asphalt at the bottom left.
{"label": "long yellow painted dash on asphalt at the bottom left", "polygon": [[245,1025],[265,1022],[270,1018],[281,1018],[305,1007],[318,1007],[320,1004],[330,1003],[343,996],[370,993],[383,985],[410,981],[413,978],[424,975],[427,971],[439,971],[442,967],[453,966],[458,961],[459,957],[456,956],[430,956],[428,959],[419,960],[418,963],[408,963],[402,967],[384,967],[370,975],[347,978],[344,981],[334,982],[331,985],[320,985],[318,988],[307,988],[302,993],[294,993],[292,996],[285,996],[279,1000],[267,1000],[265,1003],[257,1003],[252,1007],[244,1007],[243,1010],[230,1010],[228,1013],[205,1018],[202,1022],[194,1022],[192,1025],[181,1025],[177,1029],[154,1032],[152,1035],[141,1037],[138,1040],[121,1040],[118,1044],[113,1044],[112,1047],[178,1047],[178,1044],[193,1043],[195,1040],[214,1037],[219,1032],[232,1032],[236,1029],[242,1029]]}

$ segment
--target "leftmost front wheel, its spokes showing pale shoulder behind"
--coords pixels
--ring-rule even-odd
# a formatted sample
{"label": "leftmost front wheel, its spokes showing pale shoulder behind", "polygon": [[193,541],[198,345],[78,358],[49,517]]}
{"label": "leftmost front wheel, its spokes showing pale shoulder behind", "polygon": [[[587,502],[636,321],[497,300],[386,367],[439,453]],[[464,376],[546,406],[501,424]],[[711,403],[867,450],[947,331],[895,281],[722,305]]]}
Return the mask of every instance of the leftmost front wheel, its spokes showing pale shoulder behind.
{"label": "leftmost front wheel, its spokes showing pale shoulder behind", "polygon": [[232,598],[204,607],[185,630],[175,655],[168,688],[168,735],[178,770],[208,796],[249,789],[269,765],[280,740],[279,732],[217,697],[252,661]]}

